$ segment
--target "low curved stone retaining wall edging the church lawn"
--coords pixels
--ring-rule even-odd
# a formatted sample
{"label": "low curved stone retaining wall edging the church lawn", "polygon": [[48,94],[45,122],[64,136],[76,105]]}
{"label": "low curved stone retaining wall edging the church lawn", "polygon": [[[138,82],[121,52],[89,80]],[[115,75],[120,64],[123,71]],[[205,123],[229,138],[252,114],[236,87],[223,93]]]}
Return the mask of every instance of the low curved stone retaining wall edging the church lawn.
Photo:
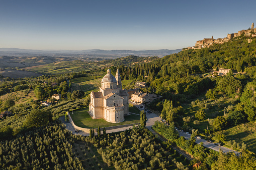
{"label": "low curved stone retaining wall edging the church lawn", "polygon": [[[70,124],[73,126],[73,128],[75,130],[81,130],[85,133],[90,133],[90,128],[83,128],[83,127],[79,127],[79,126],[76,126],[70,116],[69,113],[67,113],[68,115],[68,120],[70,122]],[[111,126],[111,127],[105,127],[106,130],[113,130],[113,129],[118,129],[118,128],[123,128],[123,127],[128,127],[128,126],[133,126],[133,125],[139,125],[140,123],[132,123],[132,124],[124,124],[124,125],[118,125],[118,126]],[[98,128],[95,128],[94,131],[97,132]],[[101,132],[103,132],[103,127],[101,128]]]}

